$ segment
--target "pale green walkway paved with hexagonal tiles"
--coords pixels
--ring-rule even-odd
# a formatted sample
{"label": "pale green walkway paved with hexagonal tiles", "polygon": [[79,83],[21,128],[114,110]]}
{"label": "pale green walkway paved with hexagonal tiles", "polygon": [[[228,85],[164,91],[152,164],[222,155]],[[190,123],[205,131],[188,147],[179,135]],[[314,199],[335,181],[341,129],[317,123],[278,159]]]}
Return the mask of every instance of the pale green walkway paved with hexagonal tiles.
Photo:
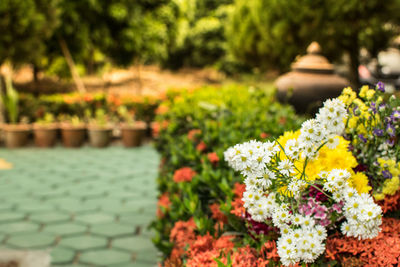
{"label": "pale green walkway paved with hexagonal tiles", "polygon": [[156,266],[146,226],[158,155],[135,149],[0,149],[0,247],[46,250],[51,266]]}

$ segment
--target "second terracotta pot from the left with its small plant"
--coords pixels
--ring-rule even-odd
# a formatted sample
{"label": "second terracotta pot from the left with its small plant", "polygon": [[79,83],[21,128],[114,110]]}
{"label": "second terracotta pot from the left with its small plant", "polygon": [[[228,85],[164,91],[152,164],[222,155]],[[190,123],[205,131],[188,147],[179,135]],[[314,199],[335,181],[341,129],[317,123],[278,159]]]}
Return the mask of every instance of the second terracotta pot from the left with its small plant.
{"label": "second terracotta pot from the left with its small plant", "polygon": [[58,123],[51,113],[45,113],[43,118],[33,124],[35,145],[38,147],[52,147],[57,141]]}

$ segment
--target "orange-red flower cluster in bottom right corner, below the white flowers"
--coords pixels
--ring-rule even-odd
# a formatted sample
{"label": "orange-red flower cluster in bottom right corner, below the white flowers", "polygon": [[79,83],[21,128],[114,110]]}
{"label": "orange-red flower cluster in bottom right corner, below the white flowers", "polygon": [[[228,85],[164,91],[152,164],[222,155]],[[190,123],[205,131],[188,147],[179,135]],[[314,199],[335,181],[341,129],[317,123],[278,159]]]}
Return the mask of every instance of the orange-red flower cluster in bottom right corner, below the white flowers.
{"label": "orange-red flower cluster in bottom right corner, below the white flowers", "polygon": [[[374,239],[358,240],[334,235],[327,239],[325,257],[352,266],[399,266],[400,220],[383,218],[382,231]],[[356,261],[354,259],[357,259]],[[355,263],[359,265],[354,265]]]}

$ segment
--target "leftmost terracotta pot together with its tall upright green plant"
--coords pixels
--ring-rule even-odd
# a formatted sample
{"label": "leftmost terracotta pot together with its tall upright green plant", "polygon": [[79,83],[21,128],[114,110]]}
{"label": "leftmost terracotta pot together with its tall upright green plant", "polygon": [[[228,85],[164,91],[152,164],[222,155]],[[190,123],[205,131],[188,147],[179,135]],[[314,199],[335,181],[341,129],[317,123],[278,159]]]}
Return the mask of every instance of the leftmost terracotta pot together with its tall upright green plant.
{"label": "leftmost terracotta pot together with its tall upright green plant", "polygon": [[28,143],[31,126],[19,123],[18,92],[12,86],[11,78],[6,79],[6,90],[1,92],[1,102],[6,110],[8,123],[3,124],[5,144],[8,148],[23,147]]}

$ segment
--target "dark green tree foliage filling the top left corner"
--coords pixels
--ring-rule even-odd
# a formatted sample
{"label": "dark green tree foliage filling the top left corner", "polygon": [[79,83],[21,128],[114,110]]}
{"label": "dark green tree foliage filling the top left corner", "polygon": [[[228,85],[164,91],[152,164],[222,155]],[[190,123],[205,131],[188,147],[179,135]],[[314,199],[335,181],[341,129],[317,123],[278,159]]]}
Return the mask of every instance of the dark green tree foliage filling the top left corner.
{"label": "dark green tree foliage filling the top left corner", "polygon": [[58,25],[57,0],[0,1],[0,64],[39,63]]}

